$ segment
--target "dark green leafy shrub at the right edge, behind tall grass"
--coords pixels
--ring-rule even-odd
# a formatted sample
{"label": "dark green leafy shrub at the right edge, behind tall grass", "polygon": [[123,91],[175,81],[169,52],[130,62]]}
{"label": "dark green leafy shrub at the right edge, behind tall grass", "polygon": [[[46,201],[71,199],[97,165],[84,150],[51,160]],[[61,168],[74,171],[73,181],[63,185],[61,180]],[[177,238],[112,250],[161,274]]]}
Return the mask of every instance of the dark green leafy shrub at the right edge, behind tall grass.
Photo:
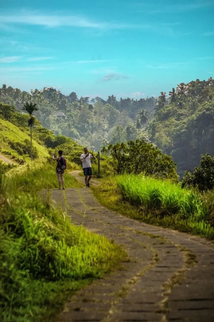
{"label": "dark green leafy shrub at the right edge, behind tall grass", "polygon": [[200,167],[196,166],[193,173],[185,171],[182,187],[198,187],[200,191],[214,188],[214,157],[208,153],[201,155]]}

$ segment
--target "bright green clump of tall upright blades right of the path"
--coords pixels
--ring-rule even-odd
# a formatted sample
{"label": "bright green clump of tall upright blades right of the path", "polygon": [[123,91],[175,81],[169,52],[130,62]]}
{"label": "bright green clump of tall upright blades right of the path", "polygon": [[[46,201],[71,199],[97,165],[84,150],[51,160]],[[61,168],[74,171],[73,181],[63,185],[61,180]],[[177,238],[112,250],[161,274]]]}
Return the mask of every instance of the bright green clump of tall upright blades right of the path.
{"label": "bright green clump of tall upright blades right of the path", "polygon": [[117,178],[124,200],[145,210],[165,210],[180,213],[185,218],[207,218],[209,209],[202,203],[196,190],[181,189],[179,185],[143,175],[123,175]]}

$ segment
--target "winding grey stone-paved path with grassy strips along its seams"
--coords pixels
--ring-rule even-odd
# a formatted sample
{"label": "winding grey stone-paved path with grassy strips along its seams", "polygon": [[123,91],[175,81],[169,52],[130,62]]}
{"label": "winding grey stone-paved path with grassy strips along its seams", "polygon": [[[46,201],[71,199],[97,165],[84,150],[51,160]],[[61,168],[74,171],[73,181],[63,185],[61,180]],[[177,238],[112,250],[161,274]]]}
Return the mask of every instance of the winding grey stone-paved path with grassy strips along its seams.
{"label": "winding grey stone-paved path with grassy strips along its seams", "polygon": [[88,188],[52,190],[51,197],[73,223],[114,239],[130,257],[78,291],[57,322],[214,321],[211,243],[109,211]]}

